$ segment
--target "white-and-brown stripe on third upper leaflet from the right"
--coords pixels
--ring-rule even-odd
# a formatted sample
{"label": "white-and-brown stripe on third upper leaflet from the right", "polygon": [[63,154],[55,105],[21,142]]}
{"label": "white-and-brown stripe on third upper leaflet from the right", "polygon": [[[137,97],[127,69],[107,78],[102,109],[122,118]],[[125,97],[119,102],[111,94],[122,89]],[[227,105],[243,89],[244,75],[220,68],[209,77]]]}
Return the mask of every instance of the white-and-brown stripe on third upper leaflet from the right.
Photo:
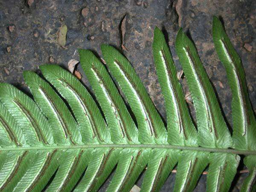
{"label": "white-and-brown stripe on third upper leaflet from the right", "polygon": [[[162,62],[163,62],[163,67],[164,67],[164,71],[165,71],[165,74],[166,74],[169,93],[171,93],[171,95],[172,95],[172,103],[174,105],[176,117],[178,119],[178,121],[177,121],[178,130],[179,130],[180,134],[181,134],[181,131],[183,131],[184,137],[185,137],[185,139],[187,139],[185,131],[184,131],[184,127],[183,127],[183,120],[182,120],[182,117],[181,117],[180,106],[178,106],[179,101],[177,101],[177,99],[178,99],[177,92],[174,89],[174,87],[172,86],[170,76],[168,75],[169,72],[168,72],[168,69],[167,69],[166,58],[164,57],[162,50],[160,50],[159,53],[160,53],[160,56],[161,56],[161,59],[162,59]],[[184,144],[184,141],[183,141],[183,144]]]}

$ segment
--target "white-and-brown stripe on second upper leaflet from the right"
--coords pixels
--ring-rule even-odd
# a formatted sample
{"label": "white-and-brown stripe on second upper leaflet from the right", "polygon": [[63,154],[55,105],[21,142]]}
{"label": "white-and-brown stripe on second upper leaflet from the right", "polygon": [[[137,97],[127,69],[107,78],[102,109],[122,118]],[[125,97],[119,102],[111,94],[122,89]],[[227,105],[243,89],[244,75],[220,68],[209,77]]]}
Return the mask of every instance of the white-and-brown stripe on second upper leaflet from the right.
{"label": "white-and-brown stripe on second upper leaflet from the right", "polygon": [[192,61],[193,60],[192,55],[189,53],[189,51],[185,47],[183,47],[183,50],[186,54],[186,57],[189,60],[189,65],[190,65],[190,67],[192,69],[192,72],[195,76],[195,80],[197,81],[197,84],[200,86],[198,90],[199,90],[199,92],[202,96],[203,102],[204,102],[204,109],[205,109],[205,112],[206,112],[207,124],[208,124],[207,127],[209,128],[209,132],[212,132],[212,129],[213,129],[215,137],[216,137],[216,139],[218,139],[217,133],[216,133],[216,130],[215,130],[215,126],[214,126],[214,122],[213,122],[212,111],[210,110],[210,104],[209,104],[209,101],[207,99],[206,91],[204,90],[203,83],[201,82],[201,79],[198,77],[198,73],[196,72],[195,64]]}

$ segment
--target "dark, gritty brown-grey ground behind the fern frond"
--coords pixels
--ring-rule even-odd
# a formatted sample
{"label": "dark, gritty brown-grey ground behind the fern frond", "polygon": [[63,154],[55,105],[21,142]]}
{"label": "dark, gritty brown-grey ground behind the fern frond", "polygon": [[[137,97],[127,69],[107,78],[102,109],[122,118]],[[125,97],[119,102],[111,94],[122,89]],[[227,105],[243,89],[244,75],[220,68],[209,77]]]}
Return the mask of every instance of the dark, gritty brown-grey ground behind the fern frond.
{"label": "dark, gritty brown-grey ground behind the fern frond", "polygon": [[[38,66],[45,63],[67,68],[70,59],[79,60],[78,48],[91,49],[101,55],[100,44],[111,44],[120,50],[123,44],[127,49],[123,53],[165,118],[151,51],[153,30],[155,26],[163,29],[180,69],[174,40],[181,26],[195,42],[227,121],[232,125],[231,92],[212,42],[213,15],[222,18],[241,56],[250,100],[256,111],[255,0],[0,0],[0,82],[9,82],[27,92],[22,78],[24,70],[38,71]],[[121,38],[120,23],[124,17],[122,29],[125,34]],[[57,38],[64,24],[67,25],[67,39],[63,48],[57,44]],[[87,84],[81,67],[77,70],[83,76],[81,81]],[[237,176],[232,191],[239,191],[244,176],[246,174]],[[203,175],[195,191],[205,191],[205,180]],[[174,181],[175,174],[171,174],[162,191],[173,189]]]}

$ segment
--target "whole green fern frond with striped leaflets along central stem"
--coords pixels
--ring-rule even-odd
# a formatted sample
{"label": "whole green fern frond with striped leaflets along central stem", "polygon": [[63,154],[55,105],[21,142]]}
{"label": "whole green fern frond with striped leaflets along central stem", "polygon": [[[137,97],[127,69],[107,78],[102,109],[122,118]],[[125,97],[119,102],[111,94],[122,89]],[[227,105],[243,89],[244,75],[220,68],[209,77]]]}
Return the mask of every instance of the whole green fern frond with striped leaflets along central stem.
{"label": "whole green fern frond with striped leaflets along central stem", "polygon": [[212,32],[233,95],[232,137],[196,48],[180,29],[175,47],[196,110],[195,128],[171,52],[156,28],[153,53],[167,131],[122,54],[101,47],[134,118],[106,67],[91,51],[80,49],[97,103],[76,77],[57,65],[40,66],[47,81],[24,72],[34,100],[10,84],[0,84],[0,191],[97,191],[115,166],[108,192],[129,191],[146,166],[141,191],[159,191],[177,165],[175,192],[192,191],[207,167],[207,191],[227,192],[239,154],[249,170],[241,191],[256,191],[256,120],[241,59],[217,17]]}

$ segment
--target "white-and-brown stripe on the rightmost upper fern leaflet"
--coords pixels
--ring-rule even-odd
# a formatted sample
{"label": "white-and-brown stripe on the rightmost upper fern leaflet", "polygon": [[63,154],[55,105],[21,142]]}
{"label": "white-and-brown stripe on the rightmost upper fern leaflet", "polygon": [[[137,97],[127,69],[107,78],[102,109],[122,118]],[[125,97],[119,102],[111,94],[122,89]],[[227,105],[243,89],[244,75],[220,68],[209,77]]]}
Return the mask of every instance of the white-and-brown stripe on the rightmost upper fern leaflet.
{"label": "white-and-brown stripe on the rightmost upper fern leaflet", "polygon": [[241,85],[241,80],[239,78],[238,74],[238,70],[233,62],[233,59],[230,57],[229,51],[227,50],[226,45],[224,44],[224,41],[219,40],[221,43],[221,47],[224,50],[224,53],[228,59],[228,61],[231,64],[232,70],[233,70],[233,74],[235,76],[236,79],[236,86],[238,87],[238,94],[239,94],[239,105],[241,106],[241,113],[242,113],[242,122],[243,122],[243,136],[246,134],[247,131],[247,126],[248,124],[250,124],[250,119],[247,115],[247,107],[246,107],[246,102],[245,102],[245,96],[244,96],[244,92],[242,91],[242,85]]}

